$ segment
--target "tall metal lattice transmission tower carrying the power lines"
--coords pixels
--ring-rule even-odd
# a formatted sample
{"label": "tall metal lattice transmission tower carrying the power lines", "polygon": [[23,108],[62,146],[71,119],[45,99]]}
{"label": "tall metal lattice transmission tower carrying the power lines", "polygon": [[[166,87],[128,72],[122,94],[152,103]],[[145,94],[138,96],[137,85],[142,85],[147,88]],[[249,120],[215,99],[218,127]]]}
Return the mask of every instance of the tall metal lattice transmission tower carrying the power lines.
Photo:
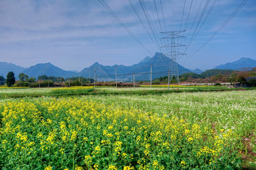
{"label": "tall metal lattice transmission tower carrying the power lines", "polygon": [[162,46],[162,48],[165,48],[167,51],[164,55],[166,55],[167,57],[170,57],[170,59],[171,59],[171,61],[169,63],[169,74],[170,75],[168,75],[168,77],[169,77],[168,82],[170,82],[172,78],[175,78],[179,84],[177,58],[181,57],[183,55],[186,55],[186,54],[183,52],[178,52],[178,50],[180,50],[181,47],[185,47],[186,45],[182,45],[178,42],[182,38],[185,38],[185,36],[179,35],[185,31],[186,30],[160,32],[160,33],[166,35],[165,37],[161,38],[161,39],[165,39],[167,42],[166,45]]}

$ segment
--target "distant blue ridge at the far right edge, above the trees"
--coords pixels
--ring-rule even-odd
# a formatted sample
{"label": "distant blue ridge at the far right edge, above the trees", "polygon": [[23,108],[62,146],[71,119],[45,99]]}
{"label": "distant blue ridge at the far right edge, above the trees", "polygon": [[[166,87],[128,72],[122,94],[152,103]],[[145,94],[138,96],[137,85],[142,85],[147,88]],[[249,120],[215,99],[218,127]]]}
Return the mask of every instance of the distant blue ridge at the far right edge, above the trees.
{"label": "distant blue ridge at the far right edge, above the trees", "polygon": [[220,65],[216,66],[214,69],[240,70],[242,68],[252,68],[252,67],[256,67],[256,60],[242,57],[242,58],[240,58],[240,60],[237,60],[235,62],[228,62],[226,64],[220,64]]}

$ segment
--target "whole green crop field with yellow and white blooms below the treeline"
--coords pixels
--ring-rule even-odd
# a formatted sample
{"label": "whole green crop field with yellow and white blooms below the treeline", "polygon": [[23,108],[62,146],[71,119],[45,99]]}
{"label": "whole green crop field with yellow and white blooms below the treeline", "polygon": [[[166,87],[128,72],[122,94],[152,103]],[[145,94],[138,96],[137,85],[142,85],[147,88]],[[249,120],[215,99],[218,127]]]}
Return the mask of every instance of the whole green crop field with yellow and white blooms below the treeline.
{"label": "whole green crop field with yellow and white blooms below the treeline", "polygon": [[256,168],[255,89],[112,91],[1,89],[0,169]]}

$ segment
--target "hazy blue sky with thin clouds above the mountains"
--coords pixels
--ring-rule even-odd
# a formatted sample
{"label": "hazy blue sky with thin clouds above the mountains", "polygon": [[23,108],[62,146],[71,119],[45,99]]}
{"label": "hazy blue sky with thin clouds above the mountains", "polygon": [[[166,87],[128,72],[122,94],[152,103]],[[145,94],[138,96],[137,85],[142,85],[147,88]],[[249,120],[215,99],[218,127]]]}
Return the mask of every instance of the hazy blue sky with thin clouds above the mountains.
{"label": "hazy blue sky with thin clouds above the mountains", "polygon": [[176,30],[186,30],[176,39],[186,46],[176,50],[186,53],[177,61],[188,69],[212,69],[241,57],[256,60],[255,0],[246,0],[225,25],[242,0],[104,2],[132,35],[100,0],[1,0],[0,62],[21,67],[50,62],[78,71],[95,62],[128,66],[168,52],[160,32]]}

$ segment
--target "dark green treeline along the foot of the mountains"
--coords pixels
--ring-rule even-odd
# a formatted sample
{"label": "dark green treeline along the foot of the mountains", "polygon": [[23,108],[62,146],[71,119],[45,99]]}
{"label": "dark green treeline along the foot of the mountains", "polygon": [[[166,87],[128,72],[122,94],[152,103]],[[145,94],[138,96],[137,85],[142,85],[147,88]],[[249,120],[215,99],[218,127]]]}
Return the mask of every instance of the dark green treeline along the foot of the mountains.
{"label": "dark green treeline along the foot of the mountains", "polygon": [[[240,72],[234,70],[226,70],[226,69],[210,69],[201,74],[196,74],[193,72],[188,72],[185,74],[179,75],[180,82],[188,82],[194,84],[203,84],[203,83],[214,83],[220,84],[224,82],[235,83],[240,82],[240,84],[244,84],[246,86],[256,86],[256,79],[248,79],[249,77],[256,77],[256,67],[247,72]],[[53,77],[41,75],[37,79],[35,77],[28,77],[26,74],[18,74],[18,80],[15,80],[14,72],[9,72],[6,76],[0,77],[0,84],[7,86],[28,86],[28,87],[57,87],[57,86],[88,86],[94,84],[94,79],[86,79],[83,77]],[[137,84],[145,84],[149,83],[149,81],[137,81]],[[159,77],[158,79],[154,79],[152,84],[167,84],[168,77]],[[170,84],[176,84],[176,79],[171,79]],[[115,86],[114,81],[108,82],[97,82],[97,86]],[[133,84],[118,82],[117,86],[133,86]]]}

